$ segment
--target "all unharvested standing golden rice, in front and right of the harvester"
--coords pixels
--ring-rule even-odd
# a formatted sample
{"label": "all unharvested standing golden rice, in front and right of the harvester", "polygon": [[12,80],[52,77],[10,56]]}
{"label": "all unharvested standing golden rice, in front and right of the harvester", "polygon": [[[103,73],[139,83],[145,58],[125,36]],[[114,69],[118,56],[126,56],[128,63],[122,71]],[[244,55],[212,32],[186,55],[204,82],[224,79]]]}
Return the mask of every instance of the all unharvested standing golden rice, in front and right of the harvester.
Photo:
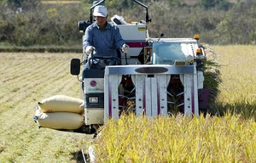
{"label": "all unharvested standing golden rice, in front and right of the harvester", "polygon": [[256,162],[256,46],[215,46],[221,81],[199,117],[122,117],[91,147],[96,162]]}

